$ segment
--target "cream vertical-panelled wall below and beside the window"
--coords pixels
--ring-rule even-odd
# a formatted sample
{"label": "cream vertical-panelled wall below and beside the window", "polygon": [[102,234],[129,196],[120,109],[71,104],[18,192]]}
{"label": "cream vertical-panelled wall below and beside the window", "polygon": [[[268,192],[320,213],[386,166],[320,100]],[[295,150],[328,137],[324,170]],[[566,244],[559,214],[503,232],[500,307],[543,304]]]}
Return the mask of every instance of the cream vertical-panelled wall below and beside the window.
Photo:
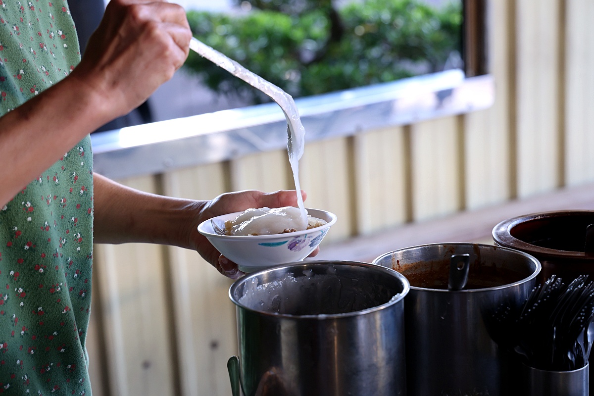
{"label": "cream vertical-panelled wall below and beside the window", "polygon": [[[307,206],[339,217],[324,243],[594,181],[593,20],[591,0],[492,0],[494,106],[307,144]],[[293,186],[283,150],[120,181],[195,199]],[[95,258],[94,394],[230,395],[230,281],[178,248],[97,245]]]}

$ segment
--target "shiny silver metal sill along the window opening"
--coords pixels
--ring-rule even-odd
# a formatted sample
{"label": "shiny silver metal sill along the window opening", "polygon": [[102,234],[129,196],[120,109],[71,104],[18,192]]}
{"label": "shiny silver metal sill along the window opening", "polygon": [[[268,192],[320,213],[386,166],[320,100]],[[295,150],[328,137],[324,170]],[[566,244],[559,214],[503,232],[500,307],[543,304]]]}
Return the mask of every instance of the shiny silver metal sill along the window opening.
{"label": "shiny silver metal sill along the window opening", "polygon": [[[486,109],[491,75],[459,69],[295,100],[306,142]],[[222,110],[91,135],[94,170],[110,178],[164,173],[286,147],[276,103]]]}

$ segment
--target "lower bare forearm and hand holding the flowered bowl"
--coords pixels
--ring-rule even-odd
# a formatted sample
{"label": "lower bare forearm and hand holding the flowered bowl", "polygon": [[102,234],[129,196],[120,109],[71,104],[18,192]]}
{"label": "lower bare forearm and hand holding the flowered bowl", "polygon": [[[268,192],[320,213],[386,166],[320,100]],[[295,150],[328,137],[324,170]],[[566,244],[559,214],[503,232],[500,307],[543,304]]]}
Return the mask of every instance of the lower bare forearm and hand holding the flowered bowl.
{"label": "lower bare forearm and hand holding the flowered bowl", "polygon": [[[208,218],[248,208],[296,206],[295,191],[230,192],[209,201],[149,194],[94,174],[93,239],[97,243],[146,242],[198,251],[220,273],[236,278],[237,265],[220,256],[198,224]],[[302,192],[307,198],[307,194]],[[317,254],[316,249],[312,255]]]}

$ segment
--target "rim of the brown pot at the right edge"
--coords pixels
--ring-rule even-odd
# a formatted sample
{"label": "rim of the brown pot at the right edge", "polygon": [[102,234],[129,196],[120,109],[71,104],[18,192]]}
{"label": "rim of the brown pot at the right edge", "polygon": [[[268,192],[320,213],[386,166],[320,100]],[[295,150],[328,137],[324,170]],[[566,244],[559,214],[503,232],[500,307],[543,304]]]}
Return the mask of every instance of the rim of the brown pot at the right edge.
{"label": "rim of the brown pot at the right edge", "polygon": [[546,258],[572,258],[572,259],[592,259],[586,256],[586,252],[562,251],[558,249],[542,248],[524,242],[511,235],[511,229],[520,223],[538,220],[540,218],[582,216],[584,214],[594,215],[594,210],[565,210],[565,211],[546,211],[530,213],[523,216],[516,216],[501,221],[492,230],[492,237],[497,245],[505,248],[517,249],[523,252],[529,252],[536,256],[546,256]]}

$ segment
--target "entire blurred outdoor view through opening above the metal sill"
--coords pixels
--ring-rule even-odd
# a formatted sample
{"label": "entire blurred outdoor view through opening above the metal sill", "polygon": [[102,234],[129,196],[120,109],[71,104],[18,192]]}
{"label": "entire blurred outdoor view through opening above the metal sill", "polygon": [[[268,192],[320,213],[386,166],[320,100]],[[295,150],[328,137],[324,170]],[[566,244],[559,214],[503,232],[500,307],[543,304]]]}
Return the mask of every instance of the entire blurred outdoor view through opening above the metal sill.
{"label": "entire blurred outdoor view through opening above the metal sill", "polygon": [[[71,0],[81,49],[103,0]],[[194,36],[293,97],[462,68],[461,0],[183,0]],[[89,9],[91,6],[91,9]],[[270,99],[191,53],[140,110],[100,131]]]}

